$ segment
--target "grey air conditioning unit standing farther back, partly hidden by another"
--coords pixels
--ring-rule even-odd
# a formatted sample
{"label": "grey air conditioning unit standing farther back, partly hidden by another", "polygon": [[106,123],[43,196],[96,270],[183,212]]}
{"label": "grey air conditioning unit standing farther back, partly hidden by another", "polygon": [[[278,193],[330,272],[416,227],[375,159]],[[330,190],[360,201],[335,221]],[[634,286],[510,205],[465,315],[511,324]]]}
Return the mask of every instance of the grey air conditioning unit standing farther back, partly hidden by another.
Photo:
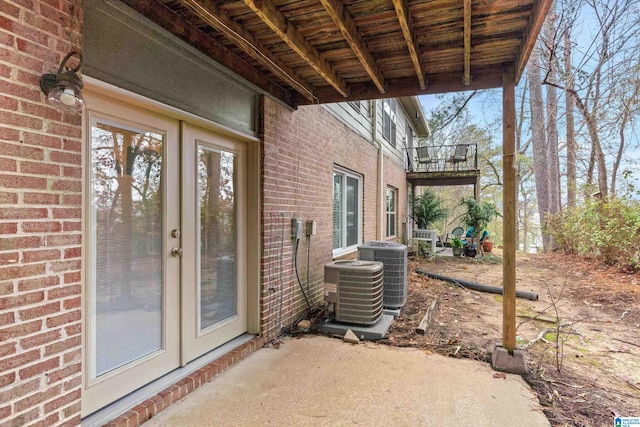
{"label": "grey air conditioning unit standing farther back, partly hidden by another", "polygon": [[407,301],[407,246],[402,243],[373,240],[358,246],[358,259],[379,261],[384,265],[385,308],[402,308]]}

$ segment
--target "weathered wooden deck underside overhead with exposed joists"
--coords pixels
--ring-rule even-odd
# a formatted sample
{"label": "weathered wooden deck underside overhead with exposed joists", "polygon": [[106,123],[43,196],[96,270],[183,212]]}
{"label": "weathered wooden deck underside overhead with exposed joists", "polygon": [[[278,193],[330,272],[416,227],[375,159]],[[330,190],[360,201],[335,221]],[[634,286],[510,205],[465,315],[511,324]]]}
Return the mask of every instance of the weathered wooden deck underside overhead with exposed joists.
{"label": "weathered wooden deck underside overhead with exposed joists", "polygon": [[516,83],[551,0],[123,0],[297,107]]}

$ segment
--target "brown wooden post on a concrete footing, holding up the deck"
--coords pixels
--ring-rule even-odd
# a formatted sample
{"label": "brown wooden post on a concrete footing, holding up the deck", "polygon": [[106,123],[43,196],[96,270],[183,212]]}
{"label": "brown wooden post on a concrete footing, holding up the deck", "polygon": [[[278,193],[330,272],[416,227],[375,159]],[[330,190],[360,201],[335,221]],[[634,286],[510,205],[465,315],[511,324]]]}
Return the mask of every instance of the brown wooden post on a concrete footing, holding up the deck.
{"label": "brown wooden post on a concrete footing, holding up the deck", "polygon": [[502,84],[503,247],[502,345],[516,349],[516,105],[515,70],[505,69]]}

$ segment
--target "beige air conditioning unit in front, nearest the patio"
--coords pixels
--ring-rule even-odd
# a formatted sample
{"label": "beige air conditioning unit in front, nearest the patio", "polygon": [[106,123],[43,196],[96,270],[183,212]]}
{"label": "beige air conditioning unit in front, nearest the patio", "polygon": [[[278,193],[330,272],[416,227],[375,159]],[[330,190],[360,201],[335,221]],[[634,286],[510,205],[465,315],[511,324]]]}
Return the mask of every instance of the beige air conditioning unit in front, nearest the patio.
{"label": "beige air conditioning unit in front, nearest the patio", "polygon": [[334,261],[324,266],[324,300],[338,322],[372,325],[382,316],[381,262]]}

